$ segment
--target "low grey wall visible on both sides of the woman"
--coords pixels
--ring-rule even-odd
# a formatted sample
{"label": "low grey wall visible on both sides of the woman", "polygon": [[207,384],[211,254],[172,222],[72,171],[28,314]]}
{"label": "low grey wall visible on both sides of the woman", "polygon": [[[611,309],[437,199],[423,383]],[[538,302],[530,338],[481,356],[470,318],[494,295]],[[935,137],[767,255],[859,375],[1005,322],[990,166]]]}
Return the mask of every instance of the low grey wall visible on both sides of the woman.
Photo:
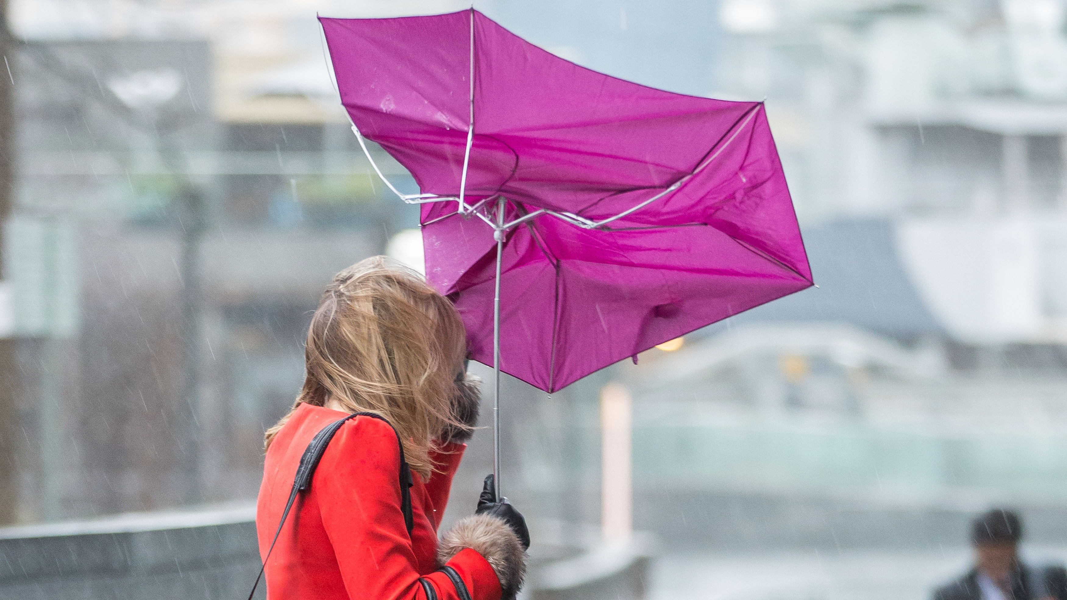
{"label": "low grey wall visible on both sides of the woman", "polygon": [[[0,600],[230,600],[259,570],[251,503],[0,528]],[[523,597],[642,600],[654,541],[603,544],[588,526],[531,523]],[[257,597],[265,597],[260,587]]]}

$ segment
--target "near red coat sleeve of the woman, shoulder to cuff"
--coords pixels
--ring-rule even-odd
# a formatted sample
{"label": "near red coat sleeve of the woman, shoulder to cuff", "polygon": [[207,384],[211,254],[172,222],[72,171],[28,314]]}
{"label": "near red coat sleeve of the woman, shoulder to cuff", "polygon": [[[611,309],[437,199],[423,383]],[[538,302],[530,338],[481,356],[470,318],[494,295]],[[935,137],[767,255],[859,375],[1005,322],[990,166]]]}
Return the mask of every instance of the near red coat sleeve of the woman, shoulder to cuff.
{"label": "near red coat sleeve of the woman, shoulder to cuff", "polygon": [[[349,598],[426,600],[400,509],[399,469],[393,428],[357,416],[337,431],[315,472],[312,491]],[[462,578],[472,600],[499,599],[496,574],[477,552],[464,550],[447,566]],[[424,579],[437,600],[460,600],[444,572]]]}

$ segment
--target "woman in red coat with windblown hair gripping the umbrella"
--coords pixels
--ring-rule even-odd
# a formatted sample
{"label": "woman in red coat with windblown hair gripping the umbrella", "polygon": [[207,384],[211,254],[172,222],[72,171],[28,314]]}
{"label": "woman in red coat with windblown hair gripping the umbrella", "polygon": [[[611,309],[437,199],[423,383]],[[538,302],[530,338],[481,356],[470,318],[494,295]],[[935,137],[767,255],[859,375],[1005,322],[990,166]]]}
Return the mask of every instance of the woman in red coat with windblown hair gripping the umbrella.
{"label": "woman in red coat with windblown hair gripping the umbrella", "polygon": [[[325,447],[266,560],[269,598],[514,598],[529,535],[510,505],[483,492],[478,514],[437,542],[478,415],[465,353],[456,309],[417,273],[376,256],[334,277],[307,331],[303,390],[267,431],[256,510],[265,560],[315,435],[353,413],[381,419],[349,419]],[[410,532],[403,459],[413,473]]]}

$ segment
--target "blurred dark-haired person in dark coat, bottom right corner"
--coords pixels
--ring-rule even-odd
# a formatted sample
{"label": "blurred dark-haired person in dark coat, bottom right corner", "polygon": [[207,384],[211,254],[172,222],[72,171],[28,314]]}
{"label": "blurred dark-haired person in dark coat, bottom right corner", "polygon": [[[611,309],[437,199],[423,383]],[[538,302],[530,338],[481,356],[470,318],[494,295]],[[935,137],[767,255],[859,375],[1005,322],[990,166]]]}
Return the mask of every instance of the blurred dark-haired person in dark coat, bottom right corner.
{"label": "blurred dark-haired person in dark coat, bottom right corner", "polygon": [[1022,523],[1009,510],[994,509],[971,524],[975,567],[934,590],[934,600],[1067,600],[1067,570],[1030,567],[1019,559]]}

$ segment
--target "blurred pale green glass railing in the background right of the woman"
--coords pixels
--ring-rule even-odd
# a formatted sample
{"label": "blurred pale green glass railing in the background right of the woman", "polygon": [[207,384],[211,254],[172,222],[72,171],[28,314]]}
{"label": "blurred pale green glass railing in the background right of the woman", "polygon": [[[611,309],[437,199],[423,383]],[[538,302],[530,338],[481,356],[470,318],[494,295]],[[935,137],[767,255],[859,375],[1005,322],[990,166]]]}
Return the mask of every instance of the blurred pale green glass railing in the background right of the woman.
{"label": "blurred pale green glass railing in the background right of the woman", "polygon": [[[583,469],[594,460],[598,431],[589,429],[588,435],[573,437],[568,449],[586,460],[525,453],[524,473],[531,489],[554,486],[553,464]],[[561,436],[550,426],[541,435],[547,440]],[[542,441],[542,445],[547,444]],[[638,491],[802,494],[968,506],[1055,504],[1067,494],[1067,429],[1048,424],[891,425],[722,413],[656,419],[638,406],[633,456]]]}

